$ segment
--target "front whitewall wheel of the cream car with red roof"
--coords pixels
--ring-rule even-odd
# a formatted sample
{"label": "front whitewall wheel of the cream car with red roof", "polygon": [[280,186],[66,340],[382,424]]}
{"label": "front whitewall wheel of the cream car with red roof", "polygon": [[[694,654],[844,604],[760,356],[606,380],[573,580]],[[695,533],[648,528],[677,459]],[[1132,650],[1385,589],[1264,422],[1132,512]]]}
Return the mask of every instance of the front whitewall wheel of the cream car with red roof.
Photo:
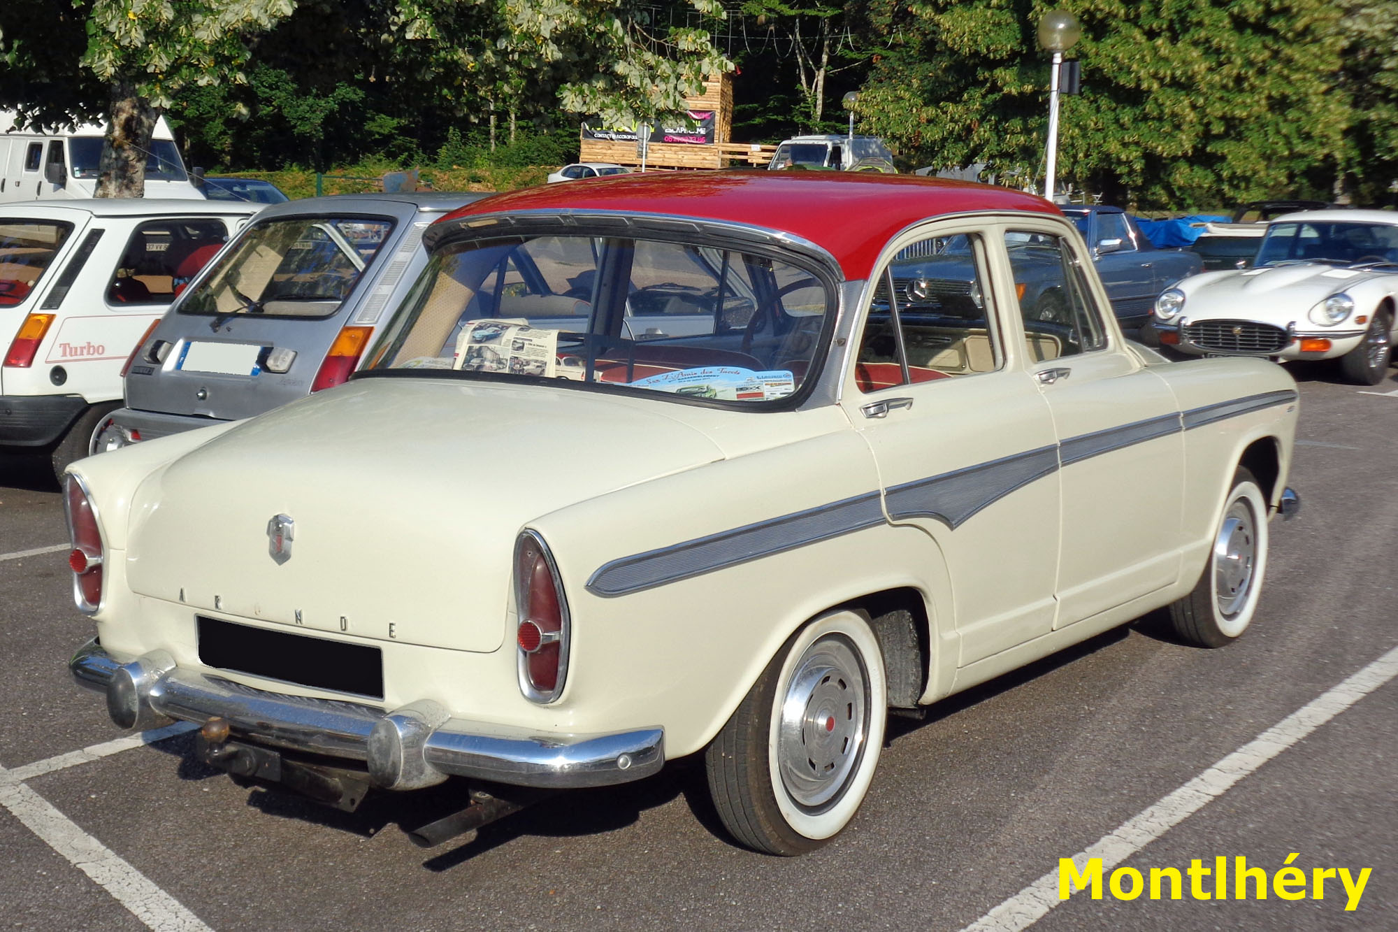
{"label": "front whitewall wheel of the cream car with red roof", "polygon": [[1232,644],[1253,621],[1265,572],[1267,497],[1253,473],[1240,467],[1223,500],[1199,581],[1170,605],[1174,633],[1198,647]]}

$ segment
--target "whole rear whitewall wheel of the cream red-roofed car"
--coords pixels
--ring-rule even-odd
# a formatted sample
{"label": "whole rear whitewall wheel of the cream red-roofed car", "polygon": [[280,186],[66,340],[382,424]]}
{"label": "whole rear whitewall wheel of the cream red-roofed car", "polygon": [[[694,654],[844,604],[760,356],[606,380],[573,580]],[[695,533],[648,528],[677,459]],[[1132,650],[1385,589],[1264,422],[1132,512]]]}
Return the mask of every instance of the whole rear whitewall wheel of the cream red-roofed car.
{"label": "whole rear whitewall wheel of the cream red-roofed car", "polygon": [[766,854],[819,848],[864,800],[886,718],[884,658],[870,623],[835,612],[807,624],[705,754],[724,827]]}

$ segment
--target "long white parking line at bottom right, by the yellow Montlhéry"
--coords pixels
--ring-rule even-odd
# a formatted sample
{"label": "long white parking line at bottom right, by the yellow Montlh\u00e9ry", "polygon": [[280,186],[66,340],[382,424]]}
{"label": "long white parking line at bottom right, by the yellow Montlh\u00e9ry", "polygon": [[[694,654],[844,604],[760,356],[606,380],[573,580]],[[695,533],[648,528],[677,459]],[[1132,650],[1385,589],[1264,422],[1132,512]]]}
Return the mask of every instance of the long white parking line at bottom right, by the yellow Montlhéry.
{"label": "long white parking line at bottom right, by the yellow Montlh\u00e9ry", "polygon": [[[1078,870],[1083,870],[1090,858],[1102,858],[1102,869],[1110,870],[1395,676],[1398,648],[1292,712],[1169,796],[1103,835],[1086,851],[1079,851],[1072,856],[1074,863]],[[1058,869],[1054,868],[962,932],[1018,932],[1042,919],[1060,903],[1064,900],[1058,898]]]}

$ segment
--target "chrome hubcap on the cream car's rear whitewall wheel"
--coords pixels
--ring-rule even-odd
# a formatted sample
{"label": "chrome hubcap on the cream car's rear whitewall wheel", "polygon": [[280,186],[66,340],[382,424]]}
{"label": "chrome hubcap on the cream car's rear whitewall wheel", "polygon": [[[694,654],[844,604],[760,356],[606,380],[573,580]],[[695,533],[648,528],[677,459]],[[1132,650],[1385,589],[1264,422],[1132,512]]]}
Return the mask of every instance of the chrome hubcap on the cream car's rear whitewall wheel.
{"label": "chrome hubcap on the cream car's rear whitewall wheel", "polygon": [[777,770],[791,799],[808,807],[836,799],[868,729],[864,663],[844,638],[807,648],[787,682],[777,729]]}

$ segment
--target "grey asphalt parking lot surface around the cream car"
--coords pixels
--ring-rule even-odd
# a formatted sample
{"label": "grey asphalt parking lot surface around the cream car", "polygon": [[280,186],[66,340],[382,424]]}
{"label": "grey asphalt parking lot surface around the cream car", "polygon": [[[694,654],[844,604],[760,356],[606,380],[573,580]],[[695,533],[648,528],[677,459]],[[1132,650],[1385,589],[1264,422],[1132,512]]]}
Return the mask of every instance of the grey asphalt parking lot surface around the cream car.
{"label": "grey asphalt parking lot surface around the cream car", "polygon": [[[449,812],[453,784],[347,814],[236,785],[182,730],[113,743],[66,669],[91,624],[52,477],[0,462],[0,925],[1398,928],[1398,379],[1293,374],[1304,507],[1272,525],[1241,641],[1181,647],[1142,619],[893,719],[854,823],[800,859],[731,844],[693,760],[425,851],[403,828]],[[1295,854],[1307,896],[1237,900],[1229,876],[1219,900],[1211,876],[1206,900],[1186,877],[1180,900],[1060,901],[1079,852],[1109,875],[1246,856],[1269,877]],[[1353,911],[1339,879],[1313,898],[1316,868],[1371,869]]]}

